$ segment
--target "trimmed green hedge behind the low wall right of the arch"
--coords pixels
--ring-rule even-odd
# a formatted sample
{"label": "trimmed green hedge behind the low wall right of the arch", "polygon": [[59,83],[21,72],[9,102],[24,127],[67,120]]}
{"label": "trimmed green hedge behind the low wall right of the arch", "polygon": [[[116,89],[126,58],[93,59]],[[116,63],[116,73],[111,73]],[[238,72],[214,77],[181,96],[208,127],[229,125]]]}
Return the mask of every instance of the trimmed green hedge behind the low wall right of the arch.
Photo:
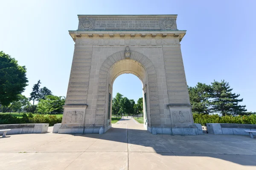
{"label": "trimmed green hedge behind the low wall right of the arch", "polygon": [[219,116],[218,114],[198,114],[193,113],[194,123],[202,125],[206,123],[236,123],[236,124],[256,124],[256,115],[249,116]]}

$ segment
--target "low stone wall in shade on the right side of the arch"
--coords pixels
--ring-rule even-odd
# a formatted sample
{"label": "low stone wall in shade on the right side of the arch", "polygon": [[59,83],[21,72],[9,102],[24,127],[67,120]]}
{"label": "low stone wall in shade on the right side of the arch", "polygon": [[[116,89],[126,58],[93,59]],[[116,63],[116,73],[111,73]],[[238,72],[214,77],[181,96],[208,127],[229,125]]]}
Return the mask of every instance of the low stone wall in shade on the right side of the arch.
{"label": "low stone wall in shade on the right side of the arch", "polygon": [[[256,125],[233,123],[207,123],[208,133],[224,135],[250,135],[244,130],[256,130]],[[256,136],[256,133],[253,133]]]}

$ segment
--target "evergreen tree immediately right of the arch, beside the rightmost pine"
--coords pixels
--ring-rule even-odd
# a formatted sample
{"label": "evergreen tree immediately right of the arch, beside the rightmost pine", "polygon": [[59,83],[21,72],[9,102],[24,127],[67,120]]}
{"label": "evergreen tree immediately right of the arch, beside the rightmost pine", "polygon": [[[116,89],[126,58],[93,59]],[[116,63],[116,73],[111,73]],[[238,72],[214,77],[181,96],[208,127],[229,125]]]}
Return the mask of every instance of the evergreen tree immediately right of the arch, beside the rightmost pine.
{"label": "evergreen tree immediately right of the arch, beside the rightmost pine", "polygon": [[212,88],[210,85],[198,82],[195,87],[189,87],[189,99],[192,105],[192,112],[194,113],[211,113],[210,92]]}

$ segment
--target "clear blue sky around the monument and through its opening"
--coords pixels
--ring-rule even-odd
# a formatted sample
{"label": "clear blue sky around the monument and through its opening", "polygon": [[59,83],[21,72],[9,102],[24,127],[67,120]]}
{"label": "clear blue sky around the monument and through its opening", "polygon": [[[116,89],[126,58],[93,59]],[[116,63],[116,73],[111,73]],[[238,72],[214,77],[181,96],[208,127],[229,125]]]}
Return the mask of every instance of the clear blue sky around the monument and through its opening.
{"label": "clear blue sky around the monument and through its opening", "polygon": [[[2,0],[0,51],[26,65],[29,96],[32,85],[66,96],[77,14],[177,14],[177,27],[187,30],[181,42],[187,83],[209,84],[225,79],[241,95],[248,111],[256,111],[255,0]],[[135,101],[142,96],[140,80],[129,74],[114,82]]]}

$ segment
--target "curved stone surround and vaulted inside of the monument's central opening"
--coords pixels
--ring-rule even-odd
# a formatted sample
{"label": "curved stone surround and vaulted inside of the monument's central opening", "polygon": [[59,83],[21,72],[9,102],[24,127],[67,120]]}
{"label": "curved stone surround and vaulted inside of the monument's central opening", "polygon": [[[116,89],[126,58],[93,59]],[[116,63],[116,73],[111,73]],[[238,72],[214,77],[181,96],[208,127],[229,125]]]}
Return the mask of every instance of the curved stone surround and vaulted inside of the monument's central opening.
{"label": "curved stone surround and vaulted inside of the monument's central opening", "polygon": [[[111,101],[109,101],[108,94],[111,95],[112,99],[111,88],[113,81],[117,76],[123,73],[136,75],[143,82],[143,87],[148,87],[148,91],[147,88],[143,89],[143,94],[148,94],[146,100],[148,101],[146,102],[148,122],[146,124],[148,127],[152,125],[154,127],[160,126],[157,74],[154,65],[148,57],[139,52],[130,51],[130,54],[129,57],[125,57],[125,51],[116,52],[105,59],[100,67],[96,105],[96,126],[104,123],[104,127],[108,129],[108,126],[111,125],[109,121],[110,117],[108,116],[108,111],[111,111],[111,109],[108,109],[108,103]],[[115,67],[116,65],[120,67]],[[143,99],[143,101],[145,101],[145,99]]]}

